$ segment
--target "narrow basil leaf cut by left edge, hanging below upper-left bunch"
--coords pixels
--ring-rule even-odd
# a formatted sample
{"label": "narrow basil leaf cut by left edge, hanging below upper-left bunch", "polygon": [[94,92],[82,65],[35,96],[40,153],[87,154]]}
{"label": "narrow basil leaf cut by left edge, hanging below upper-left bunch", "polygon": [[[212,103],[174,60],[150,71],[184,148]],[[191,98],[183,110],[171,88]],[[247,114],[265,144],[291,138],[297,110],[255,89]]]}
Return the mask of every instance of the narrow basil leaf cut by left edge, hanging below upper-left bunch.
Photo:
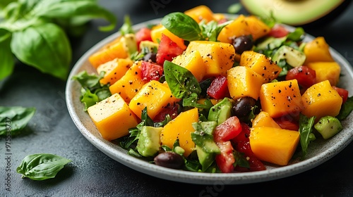
{"label": "narrow basil leaf cut by left edge, hanging below upper-left bunch", "polygon": [[0,29],[0,80],[11,75],[15,67],[10,44],[11,33]]}

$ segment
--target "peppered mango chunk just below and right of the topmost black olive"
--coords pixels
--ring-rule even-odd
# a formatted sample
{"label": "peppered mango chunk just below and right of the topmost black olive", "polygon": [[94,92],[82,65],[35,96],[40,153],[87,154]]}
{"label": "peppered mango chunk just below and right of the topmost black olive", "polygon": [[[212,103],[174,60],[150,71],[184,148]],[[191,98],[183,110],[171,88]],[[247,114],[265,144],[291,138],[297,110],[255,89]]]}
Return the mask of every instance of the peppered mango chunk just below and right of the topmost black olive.
{"label": "peppered mango chunk just below and right of the topmost black olive", "polygon": [[263,77],[263,83],[275,80],[282,71],[282,68],[271,61],[270,58],[255,51],[244,51],[241,53],[239,65],[249,67],[251,70],[258,73],[258,75],[261,75]]}

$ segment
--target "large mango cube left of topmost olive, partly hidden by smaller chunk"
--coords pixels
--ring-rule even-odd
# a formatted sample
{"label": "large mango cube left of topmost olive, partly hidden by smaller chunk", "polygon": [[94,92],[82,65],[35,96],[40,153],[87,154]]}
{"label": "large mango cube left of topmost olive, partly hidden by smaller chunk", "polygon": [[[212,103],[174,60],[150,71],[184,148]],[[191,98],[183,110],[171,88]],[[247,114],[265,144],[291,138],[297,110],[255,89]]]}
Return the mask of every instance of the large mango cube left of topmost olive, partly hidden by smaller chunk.
{"label": "large mango cube left of topmost olive, partly hidden by smaller chunk", "polygon": [[210,41],[192,41],[185,53],[199,51],[206,65],[205,77],[227,75],[234,64],[234,46],[232,44]]}

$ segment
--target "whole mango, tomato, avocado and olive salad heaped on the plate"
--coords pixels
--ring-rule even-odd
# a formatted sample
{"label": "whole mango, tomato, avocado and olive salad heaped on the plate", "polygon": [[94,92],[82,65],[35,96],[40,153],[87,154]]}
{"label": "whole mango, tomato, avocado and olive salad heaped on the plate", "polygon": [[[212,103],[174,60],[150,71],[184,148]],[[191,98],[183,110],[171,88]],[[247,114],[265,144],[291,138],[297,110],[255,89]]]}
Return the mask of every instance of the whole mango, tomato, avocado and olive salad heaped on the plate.
{"label": "whole mango, tomato, avocado and olive salad heaped on the plate", "polygon": [[[340,132],[353,96],[323,37],[271,18],[198,6],[121,35],[78,73],[103,139],[129,155],[193,172],[252,172],[305,159]],[[265,164],[265,165],[264,165]]]}

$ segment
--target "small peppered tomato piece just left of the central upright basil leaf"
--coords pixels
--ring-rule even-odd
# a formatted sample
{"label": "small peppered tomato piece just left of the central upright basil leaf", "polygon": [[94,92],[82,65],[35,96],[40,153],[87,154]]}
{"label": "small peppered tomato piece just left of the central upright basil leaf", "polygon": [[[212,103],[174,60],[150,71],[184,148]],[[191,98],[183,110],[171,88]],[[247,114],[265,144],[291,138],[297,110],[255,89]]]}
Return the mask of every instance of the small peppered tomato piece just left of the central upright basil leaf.
{"label": "small peppered tomato piece just left of the central upright basil leaf", "polygon": [[144,81],[149,82],[150,80],[160,80],[163,75],[162,65],[143,61],[141,63],[141,75]]}

